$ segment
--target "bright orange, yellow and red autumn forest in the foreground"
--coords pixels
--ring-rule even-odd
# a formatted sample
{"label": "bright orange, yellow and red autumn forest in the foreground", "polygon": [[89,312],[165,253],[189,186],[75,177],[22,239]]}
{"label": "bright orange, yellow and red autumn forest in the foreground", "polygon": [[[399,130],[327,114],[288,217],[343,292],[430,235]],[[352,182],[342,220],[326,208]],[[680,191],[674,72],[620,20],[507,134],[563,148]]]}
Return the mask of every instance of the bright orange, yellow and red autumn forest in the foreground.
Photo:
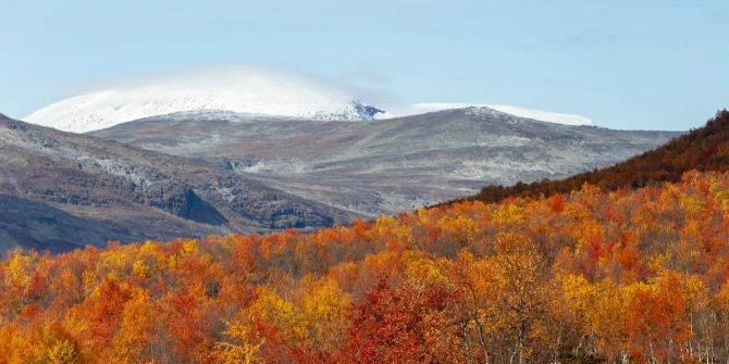
{"label": "bright orange, yellow and red autumn forest in the foreground", "polygon": [[701,170],[313,233],[15,250],[0,362],[726,363],[729,173]]}

